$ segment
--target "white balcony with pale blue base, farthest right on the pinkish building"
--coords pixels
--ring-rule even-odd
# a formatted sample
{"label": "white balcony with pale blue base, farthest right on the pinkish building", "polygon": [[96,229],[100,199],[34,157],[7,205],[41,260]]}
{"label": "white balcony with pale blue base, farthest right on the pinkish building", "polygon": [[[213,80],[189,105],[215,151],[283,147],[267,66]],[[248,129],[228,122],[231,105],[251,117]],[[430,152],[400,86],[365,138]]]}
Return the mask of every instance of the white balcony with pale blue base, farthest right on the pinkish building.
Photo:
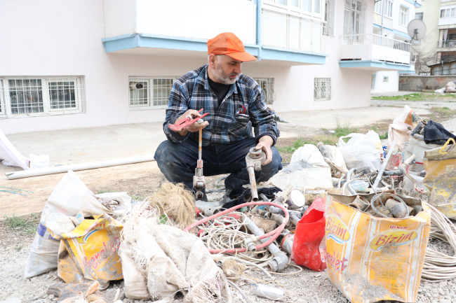
{"label": "white balcony with pale blue base, farthest right on the pinkish building", "polygon": [[340,66],[371,71],[410,69],[410,43],[375,34],[342,36]]}

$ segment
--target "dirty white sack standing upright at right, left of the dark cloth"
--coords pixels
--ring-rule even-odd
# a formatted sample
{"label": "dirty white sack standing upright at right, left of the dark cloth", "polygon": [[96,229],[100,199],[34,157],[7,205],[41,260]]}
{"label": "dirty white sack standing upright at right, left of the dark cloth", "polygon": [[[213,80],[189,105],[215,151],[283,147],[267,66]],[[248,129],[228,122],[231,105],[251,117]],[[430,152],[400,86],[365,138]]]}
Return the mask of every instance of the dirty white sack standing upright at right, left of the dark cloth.
{"label": "dirty white sack standing upright at right, left of the dark cloth", "polygon": [[[396,148],[405,151],[404,142],[408,142],[413,129],[413,109],[405,105],[403,111],[394,118],[388,127],[388,146],[396,140]],[[396,150],[396,148],[394,148]]]}

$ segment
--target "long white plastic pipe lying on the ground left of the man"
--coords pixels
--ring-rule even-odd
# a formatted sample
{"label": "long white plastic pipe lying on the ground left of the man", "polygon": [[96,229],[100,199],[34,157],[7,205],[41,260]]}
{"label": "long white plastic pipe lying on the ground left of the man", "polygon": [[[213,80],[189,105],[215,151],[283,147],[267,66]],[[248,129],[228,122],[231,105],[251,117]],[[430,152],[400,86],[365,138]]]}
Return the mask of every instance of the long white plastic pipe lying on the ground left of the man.
{"label": "long white plastic pipe lying on the ground left of the man", "polygon": [[30,169],[28,171],[13,171],[13,172],[6,173],[5,175],[6,175],[6,178],[8,178],[8,180],[14,180],[14,179],[19,179],[19,178],[28,178],[28,177],[34,177],[34,176],[44,176],[44,175],[50,175],[50,174],[66,173],[68,171],[83,171],[86,169],[100,169],[102,167],[115,167],[116,165],[125,165],[125,164],[133,164],[133,163],[149,162],[149,161],[154,161],[153,155],[63,165],[61,167],[46,167],[43,169]]}

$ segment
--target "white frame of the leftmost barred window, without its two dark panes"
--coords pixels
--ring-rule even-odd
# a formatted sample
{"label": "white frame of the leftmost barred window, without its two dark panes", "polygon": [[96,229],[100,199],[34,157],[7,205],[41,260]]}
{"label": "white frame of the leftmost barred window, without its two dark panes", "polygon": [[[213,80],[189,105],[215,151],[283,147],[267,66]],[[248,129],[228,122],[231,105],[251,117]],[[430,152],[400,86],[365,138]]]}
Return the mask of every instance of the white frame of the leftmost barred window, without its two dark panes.
{"label": "white frame of the leftmost barred window, without its two dark panes", "polygon": [[[38,113],[13,113],[11,108],[11,94],[8,80],[41,80],[41,97],[43,99],[43,111]],[[52,108],[51,95],[49,92],[50,82],[74,82],[75,107]],[[4,76],[0,78],[0,119],[43,117],[47,115],[67,115],[84,113],[84,91],[82,76]]]}

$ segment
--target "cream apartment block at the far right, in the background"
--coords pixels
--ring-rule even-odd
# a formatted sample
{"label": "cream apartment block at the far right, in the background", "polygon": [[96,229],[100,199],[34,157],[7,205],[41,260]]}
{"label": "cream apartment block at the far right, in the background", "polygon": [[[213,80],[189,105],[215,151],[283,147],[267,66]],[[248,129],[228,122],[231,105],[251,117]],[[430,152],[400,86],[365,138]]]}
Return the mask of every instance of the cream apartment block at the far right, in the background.
{"label": "cream apartment block at the far right, in the background", "polygon": [[[433,75],[456,75],[456,1],[423,1],[423,6],[416,10],[427,27],[426,36],[420,45],[420,54],[424,62],[422,72],[431,72],[427,66],[433,66]],[[438,66],[436,64],[441,64]]]}

